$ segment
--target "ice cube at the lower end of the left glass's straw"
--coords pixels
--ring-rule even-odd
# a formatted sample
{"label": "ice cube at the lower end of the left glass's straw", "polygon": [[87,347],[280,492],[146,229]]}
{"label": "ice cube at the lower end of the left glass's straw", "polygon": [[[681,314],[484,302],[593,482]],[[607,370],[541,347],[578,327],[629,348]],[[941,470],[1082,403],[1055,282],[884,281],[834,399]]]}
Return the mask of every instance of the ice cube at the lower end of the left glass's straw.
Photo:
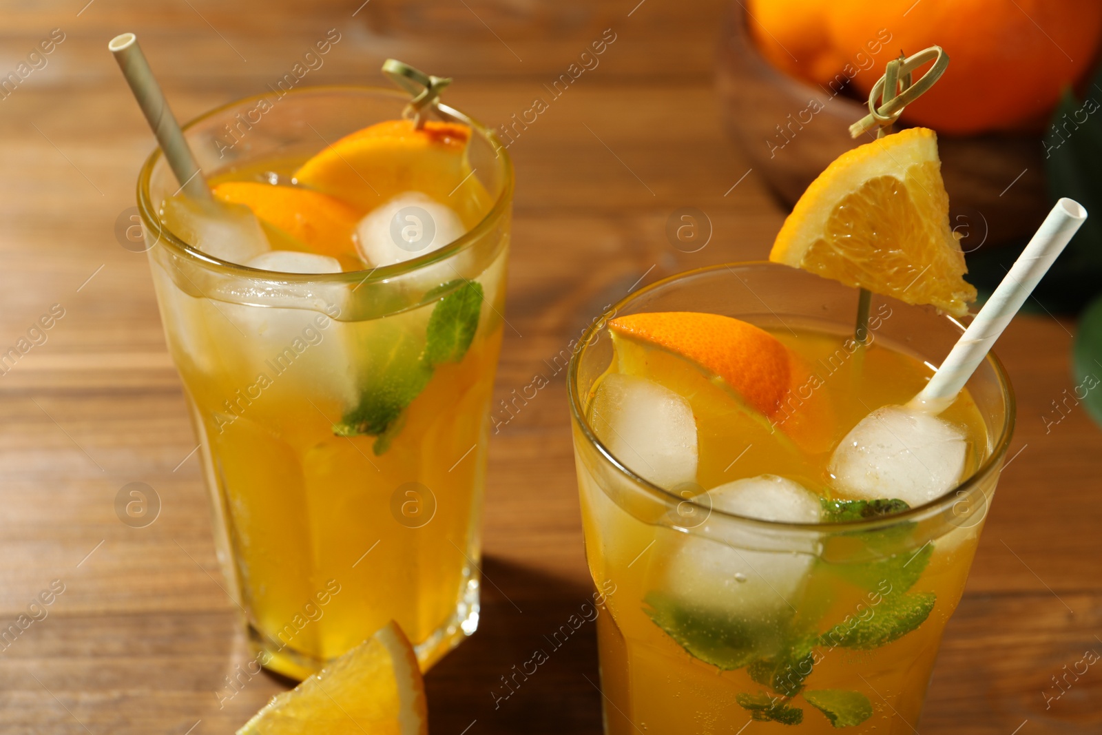
{"label": "ice cube at the lower end of the left glass's straw", "polygon": [[188,245],[229,262],[244,264],[271,249],[260,220],[240,204],[173,196],[164,201],[161,221]]}

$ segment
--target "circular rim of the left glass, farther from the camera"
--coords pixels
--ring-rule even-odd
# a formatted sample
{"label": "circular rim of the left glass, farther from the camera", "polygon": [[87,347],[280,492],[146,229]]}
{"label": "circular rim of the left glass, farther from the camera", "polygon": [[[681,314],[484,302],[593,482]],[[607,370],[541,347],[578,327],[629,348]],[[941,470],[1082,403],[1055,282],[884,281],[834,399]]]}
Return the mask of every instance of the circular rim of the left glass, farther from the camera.
{"label": "circular rim of the left glass, farther from the camera", "polygon": [[[398,89],[389,89],[387,87],[376,87],[371,85],[356,85],[356,84],[327,84],[327,85],[315,85],[300,87],[298,89],[291,89],[287,91],[287,95],[309,95],[318,91],[359,91],[359,93],[370,93],[372,95],[393,97],[397,101],[409,101],[409,95],[400,91]],[[181,126],[181,130],[186,134],[188,130],[195,126],[209,120],[210,118],[217,116],[229,109],[234,109],[242,104],[259,101],[261,99],[267,99],[272,96],[271,91],[260,93],[257,95],[250,95],[248,97],[241,97],[239,99],[234,99],[224,105],[218,105],[217,107],[210,108],[209,110],[192,118],[186,123]],[[280,98],[281,99],[281,98]],[[280,281],[283,283],[357,283],[357,288],[368,282],[387,281],[400,275],[406,275],[414,271],[421,270],[428,266],[436,263],[441,260],[450,258],[462,250],[466,250],[474,242],[483,237],[487,230],[490,229],[493,224],[500,219],[508,208],[511,206],[512,201],[512,190],[515,184],[515,172],[512,167],[512,159],[509,158],[506,147],[501,144],[497,137],[497,133],[491,129],[476,120],[475,118],[457,110],[449,105],[441,104],[441,109],[443,109],[447,115],[455,117],[460,122],[471,127],[473,131],[480,134],[484,139],[489,141],[494,147],[495,152],[498,158],[501,159],[499,164],[499,170],[504,174],[504,181],[501,185],[501,191],[497,196],[497,199],[490,206],[489,210],[483,216],[478,223],[472,227],[469,230],[464,233],[460,238],[449,242],[442,248],[426,252],[423,256],[417,258],[411,258],[409,260],[402,261],[400,263],[393,263],[390,266],[379,266],[371,269],[361,269],[355,271],[342,271],[338,273],[285,273],[282,271],[270,271],[260,268],[250,268],[241,263],[235,263],[229,260],[223,260],[214,256],[207,255],[199,250],[198,248],[188,245],[181,238],[176,237],[166,227],[161,225],[161,220],[156,217],[156,208],[152,201],[152,195],[149,191],[150,181],[153,175],[153,167],[163,158],[164,151],[160,145],[156,145],[153,151],[145,159],[142,167],[138,172],[138,213],[141,216],[142,225],[149,228],[149,231],[156,236],[153,247],[160,244],[165,244],[169,248],[184,257],[192,263],[195,263],[202,268],[207,268],[209,270],[220,272],[228,275],[237,275],[242,278],[253,278],[262,279],[264,281]],[[327,144],[326,144],[327,145]],[[323,149],[324,150],[324,149]],[[152,247],[149,248],[152,250]]]}

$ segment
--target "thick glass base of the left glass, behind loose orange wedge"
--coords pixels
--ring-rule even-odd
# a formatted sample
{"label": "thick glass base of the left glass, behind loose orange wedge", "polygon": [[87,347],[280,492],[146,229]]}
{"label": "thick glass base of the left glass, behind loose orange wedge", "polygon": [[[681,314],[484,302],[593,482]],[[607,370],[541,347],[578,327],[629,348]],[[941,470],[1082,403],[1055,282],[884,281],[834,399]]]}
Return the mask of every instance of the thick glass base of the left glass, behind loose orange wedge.
{"label": "thick glass base of the left glass, behind loose orange wedge", "polygon": [[[458,646],[464,638],[478,629],[480,607],[478,591],[478,577],[468,579],[452,617],[413,647],[422,672],[432,668],[436,661]],[[277,649],[251,623],[248,625],[248,635],[249,651],[253,660],[267,660],[266,669],[290,679],[302,681],[310,674],[321,671],[328,663],[326,660],[305,656],[285,647]]]}

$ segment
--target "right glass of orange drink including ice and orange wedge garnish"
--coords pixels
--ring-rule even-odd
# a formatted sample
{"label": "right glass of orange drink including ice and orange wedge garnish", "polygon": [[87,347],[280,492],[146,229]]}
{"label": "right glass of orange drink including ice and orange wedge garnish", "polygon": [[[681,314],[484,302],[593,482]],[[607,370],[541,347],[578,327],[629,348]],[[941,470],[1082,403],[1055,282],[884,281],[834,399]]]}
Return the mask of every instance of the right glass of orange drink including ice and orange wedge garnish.
{"label": "right glass of orange drink including ice and orange wedge garnish", "polygon": [[[931,141],[840,159],[780,262],[667,279],[585,335],[568,383],[609,735],[915,732],[1014,423],[991,355],[940,415],[898,408],[971,289]],[[852,285],[882,294],[860,342]]]}

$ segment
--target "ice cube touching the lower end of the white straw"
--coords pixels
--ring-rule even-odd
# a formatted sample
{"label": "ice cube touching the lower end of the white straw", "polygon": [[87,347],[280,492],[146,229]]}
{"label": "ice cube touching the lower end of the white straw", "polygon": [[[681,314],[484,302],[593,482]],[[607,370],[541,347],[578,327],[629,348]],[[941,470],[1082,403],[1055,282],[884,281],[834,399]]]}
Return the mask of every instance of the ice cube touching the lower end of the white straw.
{"label": "ice cube touching the lower end of the white straw", "polygon": [[856,498],[899,498],[910,507],[960,482],[964,432],[936,415],[885,406],[861,420],[831,457],[834,487]]}

